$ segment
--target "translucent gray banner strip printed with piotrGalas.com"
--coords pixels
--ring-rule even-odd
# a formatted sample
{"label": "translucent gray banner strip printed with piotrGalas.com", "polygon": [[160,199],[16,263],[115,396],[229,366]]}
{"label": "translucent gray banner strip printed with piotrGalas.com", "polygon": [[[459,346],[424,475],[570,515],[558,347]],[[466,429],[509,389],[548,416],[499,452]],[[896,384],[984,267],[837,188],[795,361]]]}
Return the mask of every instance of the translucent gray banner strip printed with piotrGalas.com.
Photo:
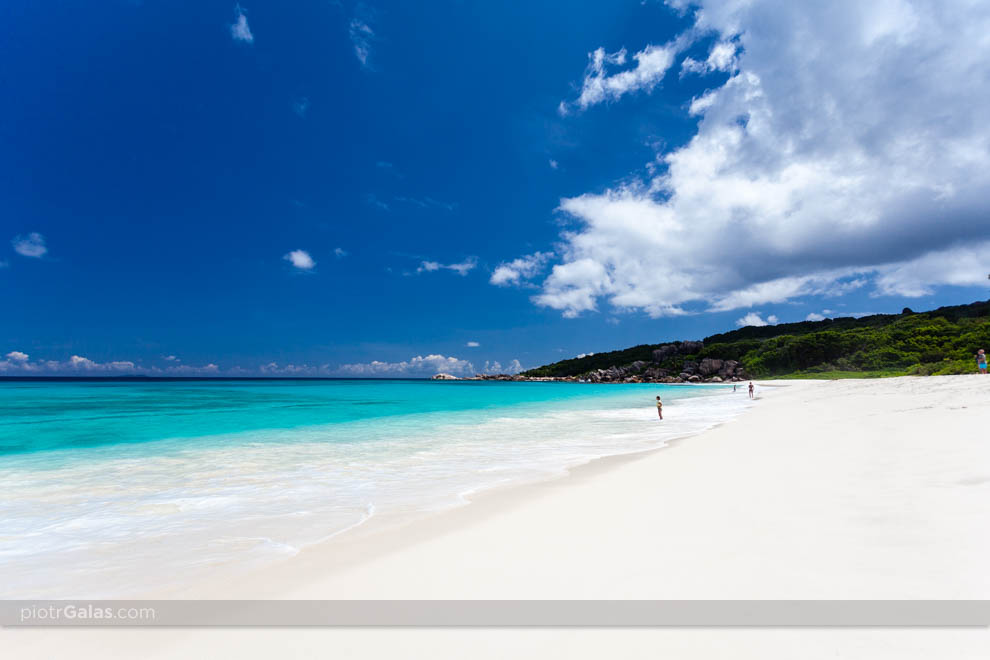
{"label": "translucent gray banner strip printed with piotrGalas.com", "polygon": [[3,626],[955,626],[985,600],[7,600]]}

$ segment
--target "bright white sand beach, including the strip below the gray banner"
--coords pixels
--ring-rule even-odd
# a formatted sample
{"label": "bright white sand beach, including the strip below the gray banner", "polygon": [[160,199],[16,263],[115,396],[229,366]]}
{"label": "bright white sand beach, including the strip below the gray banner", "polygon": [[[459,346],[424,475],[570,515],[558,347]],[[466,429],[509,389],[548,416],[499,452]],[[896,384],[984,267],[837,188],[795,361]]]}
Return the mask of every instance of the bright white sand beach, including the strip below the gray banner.
{"label": "bright white sand beach, including the strip below the gray banner", "polygon": [[[671,447],[175,595],[990,599],[990,378],[759,392],[739,418]],[[2,646],[19,658],[985,658],[990,629],[8,629]]]}

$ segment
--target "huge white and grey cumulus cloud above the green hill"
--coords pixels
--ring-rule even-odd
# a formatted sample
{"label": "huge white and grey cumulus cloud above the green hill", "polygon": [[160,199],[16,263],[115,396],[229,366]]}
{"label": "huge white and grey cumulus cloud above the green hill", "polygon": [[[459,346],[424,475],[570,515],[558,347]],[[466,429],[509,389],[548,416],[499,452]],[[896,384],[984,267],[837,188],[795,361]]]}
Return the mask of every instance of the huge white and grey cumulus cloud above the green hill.
{"label": "huge white and grey cumulus cloud above the green hill", "polygon": [[[990,5],[699,4],[691,31],[734,45],[709,58],[730,75],[648,176],[561,200],[537,304],[663,316],[985,282]],[[592,58],[587,104],[636,87],[605,83],[623,57]]]}

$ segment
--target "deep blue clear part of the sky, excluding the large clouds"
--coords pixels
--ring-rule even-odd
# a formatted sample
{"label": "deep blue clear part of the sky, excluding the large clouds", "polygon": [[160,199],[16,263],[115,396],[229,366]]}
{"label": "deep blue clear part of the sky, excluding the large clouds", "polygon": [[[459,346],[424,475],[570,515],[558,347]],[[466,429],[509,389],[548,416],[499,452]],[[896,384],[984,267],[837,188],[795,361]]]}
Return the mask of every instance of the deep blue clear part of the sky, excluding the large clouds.
{"label": "deep blue clear part of the sky, excluding the large clouds", "polygon": [[[613,186],[658,144],[691,137],[686,104],[724,77],[670,75],[652,93],[557,113],[590,51],[638,51],[686,18],[638,0],[244,10],[250,43],[232,38],[229,1],[0,6],[0,354],[530,367],[701,337],[750,311],[651,319],[603,305],[566,319],[534,305],[535,290],[488,281],[500,262],[554,248],[561,198]],[[365,64],[354,21],[374,33]],[[709,46],[694,48],[704,58]],[[14,249],[32,232],[41,257]],[[292,250],[315,268],[294,268]],[[464,276],[417,272],[472,257]],[[792,321],[984,295],[864,289],[759,311]]]}

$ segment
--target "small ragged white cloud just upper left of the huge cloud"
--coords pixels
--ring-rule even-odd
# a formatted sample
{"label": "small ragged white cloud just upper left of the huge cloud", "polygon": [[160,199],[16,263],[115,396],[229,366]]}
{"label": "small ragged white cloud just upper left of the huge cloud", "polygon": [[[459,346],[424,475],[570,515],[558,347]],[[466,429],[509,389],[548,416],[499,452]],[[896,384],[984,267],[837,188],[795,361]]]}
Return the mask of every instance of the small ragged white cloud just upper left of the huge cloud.
{"label": "small ragged white cloud just upper left of the huge cloud", "polygon": [[652,91],[674,64],[680,47],[674,42],[665,46],[647,46],[633,55],[635,67],[612,75],[608,75],[606,69],[609,66],[623,66],[626,63],[626,49],[615,53],[606,53],[604,48],[596,49],[588,54],[581,94],[571,105],[561,102],[558,112],[567,115],[572,105],[584,110],[603,101],[615,101],[629,92]]}

